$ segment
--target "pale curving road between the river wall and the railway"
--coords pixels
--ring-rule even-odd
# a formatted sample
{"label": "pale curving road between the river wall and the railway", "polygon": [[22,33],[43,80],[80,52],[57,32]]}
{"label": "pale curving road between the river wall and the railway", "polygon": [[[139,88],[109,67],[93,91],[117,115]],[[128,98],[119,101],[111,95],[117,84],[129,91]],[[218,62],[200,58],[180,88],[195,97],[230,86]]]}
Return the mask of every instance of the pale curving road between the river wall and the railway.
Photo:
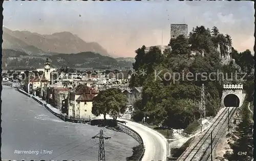
{"label": "pale curving road between the river wall and the railway", "polygon": [[[106,116],[106,118],[112,119],[109,116]],[[118,118],[117,120],[125,121],[126,126],[138,132],[139,135],[142,137],[143,144],[145,146],[145,152],[144,156],[142,157],[142,161],[166,160],[166,139],[162,134],[139,123],[124,120],[121,118]]]}

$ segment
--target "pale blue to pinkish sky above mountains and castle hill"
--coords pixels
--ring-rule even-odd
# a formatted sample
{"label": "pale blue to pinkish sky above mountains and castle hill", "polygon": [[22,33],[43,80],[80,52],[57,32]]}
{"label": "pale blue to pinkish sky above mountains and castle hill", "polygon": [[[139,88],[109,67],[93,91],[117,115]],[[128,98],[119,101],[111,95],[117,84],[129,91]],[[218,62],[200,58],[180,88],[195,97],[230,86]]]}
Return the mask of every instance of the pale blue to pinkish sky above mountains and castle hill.
{"label": "pale blue to pinkish sky above mountains and castle hill", "polygon": [[[135,50],[167,45],[170,24],[216,26],[239,52],[254,46],[250,1],[4,1],[3,25],[11,30],[52,34],[68,31],[98,42],[110,54],[135,57]],[[163,35],[163,38],[162,38]]]}

